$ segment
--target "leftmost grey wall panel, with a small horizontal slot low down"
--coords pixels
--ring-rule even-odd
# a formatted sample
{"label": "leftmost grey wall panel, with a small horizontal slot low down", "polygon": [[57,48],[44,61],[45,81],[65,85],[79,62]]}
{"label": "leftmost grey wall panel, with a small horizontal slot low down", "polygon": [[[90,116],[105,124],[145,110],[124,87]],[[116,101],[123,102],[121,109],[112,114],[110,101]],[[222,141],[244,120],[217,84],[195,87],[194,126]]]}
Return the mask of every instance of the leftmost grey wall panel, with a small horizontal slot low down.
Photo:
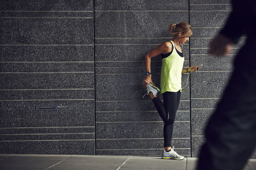
{"label": "leftmost grey wall panel, with a small horizontal slot low down", "polygon": [[0,1],[0,153],[95,154],[93,23],[92,0]]}

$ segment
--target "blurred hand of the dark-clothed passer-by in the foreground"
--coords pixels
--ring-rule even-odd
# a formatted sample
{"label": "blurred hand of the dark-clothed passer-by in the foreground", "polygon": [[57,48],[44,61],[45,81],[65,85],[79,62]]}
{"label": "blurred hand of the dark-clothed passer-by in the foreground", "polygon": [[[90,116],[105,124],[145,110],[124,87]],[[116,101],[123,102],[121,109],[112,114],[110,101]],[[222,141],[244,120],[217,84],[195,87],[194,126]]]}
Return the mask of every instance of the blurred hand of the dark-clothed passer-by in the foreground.
{"label": "blurred hand of the dark-clothed passer-by in the foreground", "polygon": [[210,42],[208,54],[223,57],[230,53],[232,45],[231,39],[219,34]]}

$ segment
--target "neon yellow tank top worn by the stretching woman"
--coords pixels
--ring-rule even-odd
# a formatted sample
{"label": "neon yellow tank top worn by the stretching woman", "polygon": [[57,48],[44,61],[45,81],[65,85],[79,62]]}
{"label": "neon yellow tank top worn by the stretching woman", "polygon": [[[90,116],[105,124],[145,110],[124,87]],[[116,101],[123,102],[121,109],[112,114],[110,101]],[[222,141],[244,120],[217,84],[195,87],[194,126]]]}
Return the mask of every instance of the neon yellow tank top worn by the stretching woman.
{"label": "neon yellow tank top worn by the stretching woman", "polygon": [[170,41],[173,46],[172,53],[162,59],[161,67],[161,94],[164,92],[178,92],[181,89],[181,74],[184,64],[184,57],[180,57],[177,53],[173,41]]}

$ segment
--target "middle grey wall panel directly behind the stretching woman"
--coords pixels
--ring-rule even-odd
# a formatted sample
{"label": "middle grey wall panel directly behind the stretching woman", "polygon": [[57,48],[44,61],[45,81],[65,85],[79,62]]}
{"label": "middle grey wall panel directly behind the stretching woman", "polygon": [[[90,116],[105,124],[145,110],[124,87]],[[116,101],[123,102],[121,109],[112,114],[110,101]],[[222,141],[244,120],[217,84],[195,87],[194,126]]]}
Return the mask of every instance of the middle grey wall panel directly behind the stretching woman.
{"label": "middle grey wall panel directly behind the stretching woman", "polygon": [[[163,123],[145,90],[144,57],[168,41],[168,25],[189,22],[188,1],[95,1],[96,153],[160,155]],[[189,45],[184,46],[186,66]],[[152,61],[159,85],[161,59]],[[187,75],[188,76],[188,75]],[[189,89],[182,96],[173,134],[190,156]]]}

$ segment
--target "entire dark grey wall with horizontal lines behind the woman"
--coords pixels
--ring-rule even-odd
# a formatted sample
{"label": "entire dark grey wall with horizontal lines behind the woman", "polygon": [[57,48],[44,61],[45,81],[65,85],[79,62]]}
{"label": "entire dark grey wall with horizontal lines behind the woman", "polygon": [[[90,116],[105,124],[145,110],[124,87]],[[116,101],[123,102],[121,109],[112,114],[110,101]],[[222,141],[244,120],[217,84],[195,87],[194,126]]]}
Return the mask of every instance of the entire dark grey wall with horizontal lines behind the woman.
{"label": "entire dark grey wall with horizontal lines behind the woman", "polygon": [[[0,153],[161,155],[163,122],[142,99],[144,56],[170,40],[169,24],[185,21],[194,34],[184,66],[204,67],[182,91],[173,145],[196,157],[239,47],[207,56],[229,12],[228,0],[1,0]],[[160,68],[156,57],[156,85]]]}

